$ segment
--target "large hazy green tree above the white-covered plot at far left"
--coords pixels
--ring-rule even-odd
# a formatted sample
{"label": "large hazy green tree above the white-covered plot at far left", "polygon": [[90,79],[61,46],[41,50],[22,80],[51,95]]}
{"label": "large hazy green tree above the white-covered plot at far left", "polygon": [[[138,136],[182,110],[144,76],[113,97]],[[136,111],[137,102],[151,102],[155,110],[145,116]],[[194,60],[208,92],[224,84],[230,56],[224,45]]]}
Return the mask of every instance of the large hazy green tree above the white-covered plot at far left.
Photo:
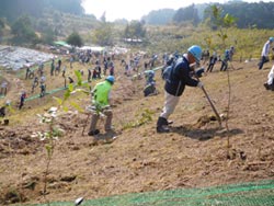
{"label": "large hazy green tree above the white-covered plot at far left", "polygon": [[35,43],[38,39],[28,15],[20,16],[12,24],[11,32],[14,35],[12,42],[15,44]]}

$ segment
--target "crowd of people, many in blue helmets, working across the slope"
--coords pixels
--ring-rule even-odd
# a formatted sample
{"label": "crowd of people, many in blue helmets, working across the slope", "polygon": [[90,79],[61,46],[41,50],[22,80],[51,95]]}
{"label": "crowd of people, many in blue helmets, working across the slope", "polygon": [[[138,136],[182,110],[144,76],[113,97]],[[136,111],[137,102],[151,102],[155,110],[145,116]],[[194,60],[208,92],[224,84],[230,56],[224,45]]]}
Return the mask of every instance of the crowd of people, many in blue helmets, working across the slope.
{"label": "crowd of people, many in blue helmets, working across the slope", "polygon": [[[267,57],[271,49],[271,44],[274,42],[274,37],[270,37],[263,46],[262,56],[259,62],[259,70],[263,68],[263,65],[267,61]],[[203,72],[213,72],[216,64],[220,64],[219,71],[226,71],[229,67],[229,61],[232,61],[236,49],[230,46],[229,49],[225,49],[222,55],[217,55],[214,50],[210,55],[209,50],[202,50],[198,45],[191,46],[185,54],[180,55],[179,52],[173,54],[164,53],[162,60],[158,58],[157,54],[148,56],[147,54],[132,54],[130,56],[124,56],[122,58],[115,58],[115,55],[109,54],[92,54],[91,52],[81,52],[73,54],[69,57],[69,68],[73,68],[73,64],[78,61],[82,65],[79,70],[81,76],[87,75],[87,81],[91,83],[93,80],[99,80],[99,83],[94,85],[91,91],[92,106],[91,110],[91,125],[88,131],[89,136],[96,136],[100,130],[96,128],[98,119],[100,115],[106,116],[105,131],[113,131],[112,127],[112,104],[111,104],[111,90],[115,83],[115,62],[121,60],[119,66],[124,68],[124,76],[127,78],[137,77],[145,79],[144,83],[144,96],[150,96],[158,94],[155,80],[155,67],[156,65],[163,65],[162,79],[164,80],[164,105],[157,121],[157,133],[169,133],[169,116],[174,112],[180,96],[182,96],[186,85],[203,88],[203,83],[199,81]],[[67,79],[69,83],[73,83],[75,80],[71,76],[67,75],[68,70],[66,64],[62,62],[64,58],[54,58],[50,62],[48,72],[45,72],[45,66],[43,62],[37,64],[37,70],[34,68],[25,68],[25,80],[32,81],[31,92],[35,92],[35,88],[39,87],[39,98],[46,94],[46,73],[49,73],[49,81],[52,77],[58,77],[61,71],[61,78],[65,79],[65,88],[67,87]],[[62,69],[61,69],[61,66]],[[202,67],[201,67],[202,66]],[[206,67],[206,68],[205,68]],[[202,68],[197,70],[196,68]],[[194,72],[195,71],[195,72]],[[121,75],[121,73],[119,73]],[[102,80],[101,80],[102,79]],[[264,83],[266,90],[274,91],[274,65],[269,73],[267,81]],[[1,94],[7,94],[8,83],[3,81],[1,83]],[[26,99],[26,91],[22,91],[20,94],[19,110],[22,110]]]}

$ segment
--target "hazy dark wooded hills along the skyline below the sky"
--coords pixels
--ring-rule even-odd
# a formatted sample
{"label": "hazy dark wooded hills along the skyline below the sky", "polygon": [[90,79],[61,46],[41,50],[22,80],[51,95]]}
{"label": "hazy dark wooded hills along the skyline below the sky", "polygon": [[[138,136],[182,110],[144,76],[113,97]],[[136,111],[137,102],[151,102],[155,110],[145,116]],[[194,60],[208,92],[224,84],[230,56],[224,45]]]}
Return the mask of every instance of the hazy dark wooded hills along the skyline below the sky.
{"label": "hazy dark wooded hills along the skyline below the sky", "polygon": [[[46,13],[61,12],[72,15],[83,16],[84,8],[81,5],[82,0],[2,0],[0,8],[1,21],[12,24],[18,18],[23,14],[28,14],[34,18],[45,19]],[[182,22],[192,22],[195,25],[204,22],[210,15],[210,5],[216,4],[221,7],[224,13],[229,13],[238,19],[237,26],[239,28],[258,27],[258,28],[274,28],[274,2],[258,2],[247,3],[243,1],[229,1],[228,3],[203,3],[192,4],[185,8],[161,9],[149,12],[141,18],[146,24],[164,25],[170,23],[180,24]],[[93,20],[96,18],[93,14],[88,15]],[[126,21],[119,21],[126,23]]]}

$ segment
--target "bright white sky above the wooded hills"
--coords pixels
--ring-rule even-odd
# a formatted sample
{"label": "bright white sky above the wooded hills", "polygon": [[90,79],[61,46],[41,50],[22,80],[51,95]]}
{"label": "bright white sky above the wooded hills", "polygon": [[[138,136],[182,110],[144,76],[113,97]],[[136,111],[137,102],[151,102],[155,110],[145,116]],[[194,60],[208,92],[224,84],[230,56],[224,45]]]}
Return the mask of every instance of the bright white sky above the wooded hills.
{"label": "bright white sky above the wooded hills", "polygon": [[[94,14],[100,19],[105,12],[106,21],[117,19],[140,20],[142,15],[152,10],[159,9],[180,9],[192,3],[219,2],[228,0],[83,0],[82,7],[88,14]],[[246,2],[270,2],[271,0],[244,0]]]}

